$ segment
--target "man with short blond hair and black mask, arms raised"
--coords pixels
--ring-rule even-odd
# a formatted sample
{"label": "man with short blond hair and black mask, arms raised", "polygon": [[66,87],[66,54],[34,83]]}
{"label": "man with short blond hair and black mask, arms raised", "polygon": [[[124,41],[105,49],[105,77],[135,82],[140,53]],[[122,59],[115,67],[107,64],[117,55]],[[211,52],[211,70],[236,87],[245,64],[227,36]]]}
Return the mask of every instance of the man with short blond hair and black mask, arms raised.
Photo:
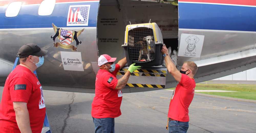
{"label": "man with short blond hair and black mask, arms raised", "polygon": [[186,61],[179,71],[168,56],[166,46],[162,47],[162,53],[164,53],[163,56],[169,73],[179,82],[173,91],[169,105],[169,133],[185,133],[188,130],[188,107],[193,100],[196,87],[193,77],[197,72],[197,65],[193,61]]}

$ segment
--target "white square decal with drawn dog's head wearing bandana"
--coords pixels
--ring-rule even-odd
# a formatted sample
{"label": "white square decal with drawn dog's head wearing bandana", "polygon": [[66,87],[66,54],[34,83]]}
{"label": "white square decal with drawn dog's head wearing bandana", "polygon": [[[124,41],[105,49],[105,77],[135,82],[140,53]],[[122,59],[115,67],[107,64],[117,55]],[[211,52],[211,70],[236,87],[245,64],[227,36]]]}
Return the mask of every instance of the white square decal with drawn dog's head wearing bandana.
{"label": "white square decal with drawn dog's head wearing bandana", "polygon": [[181,34],[178,56],[200,57],[204,37],[203,35]]}

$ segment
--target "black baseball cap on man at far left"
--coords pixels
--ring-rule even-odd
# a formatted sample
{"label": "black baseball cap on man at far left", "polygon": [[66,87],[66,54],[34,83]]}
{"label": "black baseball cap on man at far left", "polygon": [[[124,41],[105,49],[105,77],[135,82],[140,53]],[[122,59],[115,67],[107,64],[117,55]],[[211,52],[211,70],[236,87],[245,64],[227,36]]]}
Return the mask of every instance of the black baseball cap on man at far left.
{"label": "black baseball cap on man at far left", "polygon": [[47,54],[47,50],[41,49],[34,43],[28,43],[19,48],[17,57],[24,58],[30,55],[32,56],[45,56]]}

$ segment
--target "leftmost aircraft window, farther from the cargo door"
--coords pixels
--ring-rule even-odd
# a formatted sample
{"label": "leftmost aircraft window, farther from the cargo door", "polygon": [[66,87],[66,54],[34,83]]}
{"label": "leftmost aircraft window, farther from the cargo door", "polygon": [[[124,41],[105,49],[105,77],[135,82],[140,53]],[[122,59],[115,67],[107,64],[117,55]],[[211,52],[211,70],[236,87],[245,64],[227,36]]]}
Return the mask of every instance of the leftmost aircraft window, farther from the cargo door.
{"label": "leftmost aircraft window, farther from the cargo door", "polygon": [[12,2],[6,8],[5,16],[6,17],[16,17],[19,14],[20,7],[22,2]]}

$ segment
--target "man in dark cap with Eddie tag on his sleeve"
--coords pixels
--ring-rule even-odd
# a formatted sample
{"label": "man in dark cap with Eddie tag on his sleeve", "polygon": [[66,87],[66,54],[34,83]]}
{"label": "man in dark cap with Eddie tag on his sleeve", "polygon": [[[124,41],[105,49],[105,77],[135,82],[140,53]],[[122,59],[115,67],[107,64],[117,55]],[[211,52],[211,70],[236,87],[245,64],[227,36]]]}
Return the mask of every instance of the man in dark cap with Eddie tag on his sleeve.
{"label": "man in dark cap with Eddie tag on his sleeve", "polygon": [[33,73],[44,63],[47,50],[35,44],[22,46],[20,64],[8,75],[0,103],[0,133],[40,133],[45,118],[42,87]]}

